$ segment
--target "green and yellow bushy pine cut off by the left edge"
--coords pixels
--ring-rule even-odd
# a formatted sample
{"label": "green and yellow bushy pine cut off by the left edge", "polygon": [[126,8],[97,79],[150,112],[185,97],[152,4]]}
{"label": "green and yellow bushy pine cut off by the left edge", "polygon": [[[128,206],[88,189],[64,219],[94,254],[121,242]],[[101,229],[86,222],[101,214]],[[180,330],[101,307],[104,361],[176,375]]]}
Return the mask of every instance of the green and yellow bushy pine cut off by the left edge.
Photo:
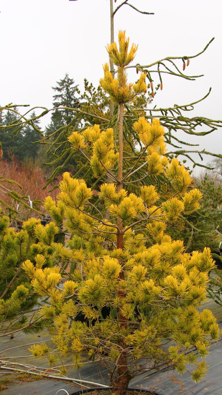
{"label": "green and yellow bushy pine cut off by the left edge", "polygon": [[[52,267],[54,249],[51,243],[58,232],[53,223],[43,228],[40,219],[36,218],[23,222],[21,231],[16,232],[9,228],[9,217],[0,216],[0,337],[22,329],[32,331],[34,323],[35,331],[44,327],[41,318],[28,320],[24,314],[36,303],[38,295],[33,293],[22,264],[28,258],[36,269]],[[15,315],[13,324],[6,325],[6,319]]]}

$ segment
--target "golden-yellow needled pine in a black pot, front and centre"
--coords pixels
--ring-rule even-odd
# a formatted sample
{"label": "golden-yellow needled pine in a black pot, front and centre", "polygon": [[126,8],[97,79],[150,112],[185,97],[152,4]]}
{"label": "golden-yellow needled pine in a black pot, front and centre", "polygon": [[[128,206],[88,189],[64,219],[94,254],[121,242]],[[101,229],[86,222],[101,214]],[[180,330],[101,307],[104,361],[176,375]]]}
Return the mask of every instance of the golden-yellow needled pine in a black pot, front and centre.
{"label": "golden-yellow needled pine in a black pot, front and centre", "polygon": [[[55,225],[63,223],[73,235],[68,248],[57,246],[57,254],[72,260],[76,269],[66,271],[67,281],[59,286],[61,276],[43,269],[40,258],[38,267],[30,260],[23,263],[34,292],[50,297],[50,305],[41,308],[40,315],[54,320],[54,350],[70,351],[77,367],[84,352],[104,363],[113,395],[126,394],[138,372],[169,365],[181,374],[194,365],[191,374],[198,382],[206,371],[205,361],[198,356],[204,357],[211,340],[218,337],[211,311],[197,308],[206,297],[208,272],[214,266],[210,250],[187,254],[182,241],[164,233],[167,222],[199,208],[201,193],[188,191],[192,184],[188,171],[177,159],[167,158],[164,128],[158,119],[149,123],[140,117],[134,123],[142,149],[130,168],[123,167],[124,107],[147,89],[146,73],[135,84],[127,81],[126,67],[137,50],[136,45],[130,49],[128,45],[125,32],[119,32],[119,49],[116,43],[107,46],[117,78],[105,64],[100,80],[119,108],[117,148],[113,129],[101,131],[98,125],[68,138],[71,149],[79,150],[89,162],[94,177],[112,180],[100,186],[104,210],[91,203],[93,192],[85,181],[69,173],[63,175],[57,201],[50,197],[45,201]],[[140,165],[142,156],[145,160]],[[130,193],[128,180],[141,167],[153,177],[153,184],[142,185],[137,179],[138,193]],[[159,174],[173,190],[165,201],[156,190]],[[48,353],[53,363],[46,345],[30,350],[33,355]]]}

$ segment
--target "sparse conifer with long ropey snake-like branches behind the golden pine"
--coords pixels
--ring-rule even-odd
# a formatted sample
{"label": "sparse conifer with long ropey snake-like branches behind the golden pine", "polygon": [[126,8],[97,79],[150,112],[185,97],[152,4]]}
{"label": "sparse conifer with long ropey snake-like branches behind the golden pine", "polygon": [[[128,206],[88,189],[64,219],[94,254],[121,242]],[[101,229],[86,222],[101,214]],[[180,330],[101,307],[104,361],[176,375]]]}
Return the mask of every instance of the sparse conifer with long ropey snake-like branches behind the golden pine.
{"label": "sparse conifer with long ropey snake-like branches behind the golden pine", "polygon": [[[108,2],[107,2],[108,3]],[[114,41],[114,21],[117,13],[125,6],[130,6],[130,8],[134,9],[134,12],[136,13],[141,13],[143,15],[153,15],[152,12],[147,12],[145,10],[138,9],[136,6],[129,4],[128,0],[124,2],[120,2],[120,4],[117,4],[116,7],[114,7],[113,0],[109,0],[110,3],[110,37],[111,37],[111,43]],[[116,0],[115,0],[116,3]],[[190,56],[167,56],[165,58],[162,58],[160,60],[155,60],[146,65],[141,65],[139,63],[130,65],[130,68],[134,68],[134,70],[138,73],[139,71],[145,71],[147,73],[147,79],[149,81],[147,85],[147,96],[145,98],[143,97],[143,100],[141,101],[141,98],[138,98],[138,102],[136,103],[128,103],[127,106],[127,117],[124,117],[124,128],[123,128],[123,133],[124,133],[124,140],[128,141],[128,144],[131,147],[131,152],[126,153],[128,156],[132,156],[135,154],[134,152],[134,147],[135,145],[139,144],[140,141],[137,139],[137,135],[134,134],[134,131],[132,130],[132,124],[138,119],[139,115],[141,115],[141,111],[144,112],[143,115],[145,117],[152,121],[152,119],[155,119],[156,117],[160,118],[161,124],[166,127],[166,134],[165,134],[165,139],[167,143],[171,146],[171,152],[169,154],[176,154],[176,155],[182,155],[185,158],[189,158],[192,163],[193,167],[195,166],[203,166],[206,168],[209,168],[205,166],[202,163],[196,162],[195,157],[193,157],[193,153],[198,153],[199,158],[201,161],[203,160],[203,156],[206,154],[213,155],[215,157],[221,158],[221,155],[216,155],[212,154],[211,152],[207,152],[206,150],[199,151],[196,149],[196,145],[190,144],[187,141],[187,134],[188,135],[196,135],[196,136],[202,136],[205,134],[209,134],[215,130],[215,128],[221,127],[222,123],[220,120],[211,120],[209,118],[205,117],[196,117],[192,116],[189,117],[190,111],[192,111],[195,107],[195,105],[202,100],[205,100],[207,96],[211,92],[211,88],[209,92],[201,99],[196,100],[195,102],[192,103],[183,103],[182,105],[174,105],[173,107],[167,107],[167,108],[156,108],[156,106],[150,106],[149,104],[152,102],[156,91],[160,88],[160,90],[163,89],[163,77],[165,76],[165,73],[174,76],[174,77],[181,77],[183,79],[187,79],[190,81],[194,81],[198,77],[201,77],[201,75],[189,75],[187,73],[187,66],[190,64],[190,60],[193,60],[197,56],[200,56],[203,52],[206,51],[207,47],[211,44],[211,42],[214,40],[212,38],[209,43],[205,46],[203,51],[200,51],[196,55],[190,55]],[[182,66],[182,67],[181,67]],[[115,75],[115,69],[114,69],[114,64],[112,60],[110,59],[110,70],[111,73],[114,77]],[[155,88],[156,85],[156,88]],[[88,89],[89,88],[89,89]],[[92,100],[90,100],[90,106],[87,105],[82,105],[81,108],[77,109],[75,111],[75,117],[71,121],[71,124],[75,126],[75,129],[77,130],[81,128],[81,124],[84,123],[83,121],[90,120],[96,120],[96,123],[102,124],[102,126],[105,127],[113,127],[114,129],[114,135],[116,138],[116,130],[118,128],[118,106],[114,105],[113,101],[110,100],[110,106],[109,106],[109,111],[107,111],[107,105],[103,106],[98,106],[97,103],[95,103],[93,96],[95,97],[95,90],[91,89],[90,86],[88,85],[86,89],[86,96],[87,92],[90,93],[92,96]],[[97,92],[98,97],[101,98],[100,91],[98,90]],[[83,95],[84,96],[84,95]],[[99,102],[100,100],[98,100]],[[103,104],[104,101],[102,100]],[[85,104],[85,103],[84,103]],[[142,104],[142,106],[138,106],[138,104]],[[148,104],[148,105],[146,105]],[[134,107],[135,106],[135,107]],[[103,114],[101,114],[101,109]],[[189,115],[188,115],[189,114]],[[97,118],[97,119],[96,119]],[[92,125],[93,126],[93,125]],[[199,132],[198,127],[199,126],[204,126],[204,129],[206,130],[205,132]],[[184,137],[178,138],[178,133],[177,131],[184,132]],[[71,160],[72,156],[70,154],[69,148],[65,147],[64,143],[64,137],[68,137],[69,132],[68,128],[64,128],[63,130],[58,130],[60,132],[60,135],[58,135],[57,132],[54,132],[58,135],[58,138],[56,140],[56,144],[59,145],[59,142],[63,141],[63,150],[60,152],[58,157],[51,162],[53,166],[57,164],[56,169],[53,171],[51,177],[47,180],[48,182],[52,181],[53,177],[56,176],[58,172],[60,172],[62,169],[67,168],[68,162]],[[182,134],[180,133],[182,136]],[[133,142],[133,143],[132,143]],[[184,147],[185,145],[185,147]],[[53,149],[55,150],[54,154],[58,152],[54,144],[52,144],[50,150]],[[67,157],[66,154],[69,154]],[[144,158],[143,158],[144,159]],[[128,158],[126,156],[124,157],[124,166],[128,166]],[[82,163],[82,169],[77,172],[77,175],[79,176],[79,173],[81,171],[88,171],[87,168],[87,162]],[[145,174],[141,175],[145,176]],[[147,180],[146,180],[147,181]]]}

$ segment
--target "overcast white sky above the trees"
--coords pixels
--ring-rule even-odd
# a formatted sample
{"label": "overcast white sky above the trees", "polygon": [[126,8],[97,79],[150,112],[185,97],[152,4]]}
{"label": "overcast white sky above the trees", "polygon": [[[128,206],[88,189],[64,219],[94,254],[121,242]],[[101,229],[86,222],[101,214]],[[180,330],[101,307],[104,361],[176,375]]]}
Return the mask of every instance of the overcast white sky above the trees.
{"label": "overcast white sky above the trees", "polygon": [[[117,0],[118,6],[122,0]],[[169,107],[211,95],[194,115],[222,119],[221,44],[222,2],[219,0],[131,0],[141,15],[124,5],[115,17],[139,44],[135,62],[149,64],[164,56],[194,55],[215,37],[207,51],[190,61],[187,73],[204,74],[198,81],[163,77],[163,90],[154,104]],[[86,77],[95,86],[108,60],[109,0],[0,0],[0,103],[52,106],[52,86],[66,72],[83,88]],[[182,61],[181,61],[182,69]],[[134,75],[131,75],[131,80]],[[135,75],[136,79],[136,75]],[[158,80],[156,80],[158,83]],[[49,118],[45,119],[48,123]],[[187,136],[188,139],[188,136]],[[193,140],[192,140],[193,141]],[[196,140],[195,140],[196,141]],[[222,129],[201,137],[201,149],[222,153]]]}

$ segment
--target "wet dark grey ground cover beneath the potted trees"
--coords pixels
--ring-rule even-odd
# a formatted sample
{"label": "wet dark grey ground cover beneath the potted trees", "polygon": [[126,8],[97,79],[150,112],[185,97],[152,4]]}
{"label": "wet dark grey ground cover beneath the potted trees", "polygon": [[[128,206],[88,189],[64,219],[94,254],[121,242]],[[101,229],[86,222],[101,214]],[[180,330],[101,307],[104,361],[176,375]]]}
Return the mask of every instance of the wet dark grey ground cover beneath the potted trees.
{"label": "wet dark grey ground cover beneath the potted trees", "polygon": [[[213,311],[216,316],[220,328],[222,328],[222,307],[216,304],[212,299],[207,299],[202,308],[209,308]],[[29,334],[24,335],[20,333],[15,335],[13,339],[10,337],[1,338],[0,340],[0,359],[8,361],[8,367],[14,367],[16,369],[24,370],[25,366],[22,365],[33,365],[35,367],[47,368],[45,359],[33,358],[29,354],[28,347],[32,343],[47,342],[50,344],[50,335],[47,331],[43,331],[40,334]],[[27,345],[29,344],[29,346]],[[179,394],[193,394],[193,395],[221,395],[222,394],[222,341],[211,346],[211,353],[207,356],[207,365],[209,365],[209,372],[201,380],[200,384],[194,384],[190,379],[188,373],[181,376],[174,374],[173,371],[153,373],[153,374],[140,374],[135,377],[131,382],[131,387],[137,389],[153,390],[156,393],[162,395],[179,395]],[[10,364],[9,364],[10,362]],[[19,365],[12,365],[22,364]],[[71,356],[64,359],[64,363],[69,365],[72,363]],[[3,363],[1,363],[3,366]],[[5,365],[6,366],[6,365]],[[99,367],[95,362],[86,362],[79,371],[71,368],[67,372],[67,377],[75,378],[77,380],[87,380],[90,382],[96,382],[100,384],[106,384],[100,377]],[[105,371],[102,371],[105,374]],[[68,382],[63,380],[55,380],[49,378],[42,378],[37,381],[34,380],[34,376],[26,376],[21,378],[21,373],[13,373],[8,370],[0,370],[0,380],[8,379],[5,381],[5,389],[0,392],[1,395],[64,395],[72,394],[79,391],[80,384],[74,382]],[[53,373],[55,374],[55,372]],[[91,385],[84,384],[85,386],[92,387]],[[62,391],[66,389],[67,392]]]}

